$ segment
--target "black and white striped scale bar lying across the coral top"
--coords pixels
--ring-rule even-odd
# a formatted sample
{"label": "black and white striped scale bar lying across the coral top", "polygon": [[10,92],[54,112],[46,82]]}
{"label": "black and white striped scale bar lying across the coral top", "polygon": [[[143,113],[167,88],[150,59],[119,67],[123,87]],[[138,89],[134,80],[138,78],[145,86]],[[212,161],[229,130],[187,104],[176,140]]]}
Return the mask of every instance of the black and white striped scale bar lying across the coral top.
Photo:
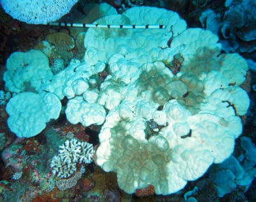
{"label": "black and white striped scale bar lying across the coral top", "polygon": [[135,25],[135,24],[87,24],[87,23],[69,23],[69,22],[50,22],[49,26],[62,26],[62,27],[94,27],[94,28],[111,28],[111,29],[164,29],[163,24],[146,24],[146,25]]}

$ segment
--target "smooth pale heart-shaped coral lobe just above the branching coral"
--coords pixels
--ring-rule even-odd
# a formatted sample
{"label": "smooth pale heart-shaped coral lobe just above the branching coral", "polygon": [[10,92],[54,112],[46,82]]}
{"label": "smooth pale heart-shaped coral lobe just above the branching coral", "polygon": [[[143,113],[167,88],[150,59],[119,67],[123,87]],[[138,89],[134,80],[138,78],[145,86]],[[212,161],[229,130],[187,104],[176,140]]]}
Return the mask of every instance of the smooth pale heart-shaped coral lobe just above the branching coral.
{"label": "smooth pale heart-shaped coral lobe just above the branching coral", "polygon": [[60,111],[61,103],[54,93],[19,93],[6,105],[8,127],[20,138],[33,137],[44,130],[47,122],[56,120]]}

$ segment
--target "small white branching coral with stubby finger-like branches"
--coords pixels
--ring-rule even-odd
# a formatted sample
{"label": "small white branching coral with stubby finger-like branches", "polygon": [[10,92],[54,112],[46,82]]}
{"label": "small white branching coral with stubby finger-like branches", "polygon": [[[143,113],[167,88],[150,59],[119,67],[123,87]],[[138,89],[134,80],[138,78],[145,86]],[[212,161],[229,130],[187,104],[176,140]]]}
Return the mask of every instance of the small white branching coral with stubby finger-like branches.
{"label": "small white branching coral with stubby finger-like branches", "polygon": [[52,174],[68,178],[77,171],[78,164],[90,164],[93,161],[93,145],[71,139],[60,146],[59,154],[51,161]]}

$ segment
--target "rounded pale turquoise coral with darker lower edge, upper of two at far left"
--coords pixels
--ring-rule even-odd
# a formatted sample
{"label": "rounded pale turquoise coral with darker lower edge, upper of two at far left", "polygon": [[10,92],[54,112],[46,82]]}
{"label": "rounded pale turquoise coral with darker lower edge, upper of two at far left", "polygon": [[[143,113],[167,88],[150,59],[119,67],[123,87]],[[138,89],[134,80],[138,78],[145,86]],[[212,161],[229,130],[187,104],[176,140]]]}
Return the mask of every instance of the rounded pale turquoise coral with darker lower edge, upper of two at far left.
{"label": "rounded pale turquoise coral with darker lower edge, upper of two at far left", "polygon": [[6,68],[3,77],[5,87],[14,93],[37,92],[42,82],[53,75],[49,59],[40,50],[13,52],[6,61]]}

